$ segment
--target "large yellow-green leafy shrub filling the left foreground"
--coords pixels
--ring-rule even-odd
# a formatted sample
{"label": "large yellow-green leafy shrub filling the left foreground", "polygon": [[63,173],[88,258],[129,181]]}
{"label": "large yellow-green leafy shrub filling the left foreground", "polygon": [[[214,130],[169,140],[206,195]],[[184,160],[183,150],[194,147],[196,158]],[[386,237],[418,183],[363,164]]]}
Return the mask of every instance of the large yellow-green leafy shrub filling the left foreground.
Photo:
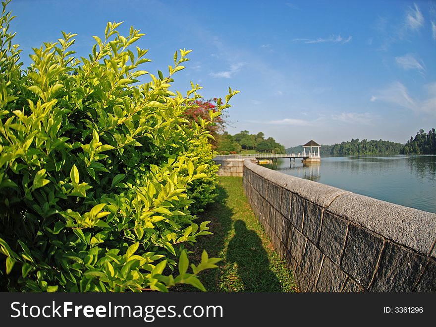
{"label": "large yellow-green leafy shrub filling the left foreground", "polygon": [[[9,1],[6,1],[6,3]],[[183,111],[199,98],[169,90],[190,51],[174,54],[168,76],[147,74],[143,34],[119,35],[108,23],[87,58],[74,58],[75,34],[34,49],[21,69],[0,20],[0,287],[9,291],[204,290],[183,243],[210,234],[195,224],[187,188],[210,178],[203,164],[206,128],[237,93],[218,101],[211,120],[190,126]],[[197,152],[200,153],[200,152]],[[191,189],[193,190],[193,189]],[[193,197],[195,198],[195,191]],[[178,275],[163,269],[178,268]],[[165,270],[166,271],[166,270]]]}

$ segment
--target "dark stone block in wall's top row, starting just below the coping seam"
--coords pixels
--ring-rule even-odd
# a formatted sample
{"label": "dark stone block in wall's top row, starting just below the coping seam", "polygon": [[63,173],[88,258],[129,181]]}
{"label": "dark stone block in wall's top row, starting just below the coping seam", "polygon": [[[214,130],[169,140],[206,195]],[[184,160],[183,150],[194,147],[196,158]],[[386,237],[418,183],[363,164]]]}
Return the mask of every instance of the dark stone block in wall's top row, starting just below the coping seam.
{"label": "dark stone block in wall's top row, starting just below the coping seam", "polygon": [[323,214],[320,249],[333,262],[339,264],[347,234],[348,223],[327,211]]}

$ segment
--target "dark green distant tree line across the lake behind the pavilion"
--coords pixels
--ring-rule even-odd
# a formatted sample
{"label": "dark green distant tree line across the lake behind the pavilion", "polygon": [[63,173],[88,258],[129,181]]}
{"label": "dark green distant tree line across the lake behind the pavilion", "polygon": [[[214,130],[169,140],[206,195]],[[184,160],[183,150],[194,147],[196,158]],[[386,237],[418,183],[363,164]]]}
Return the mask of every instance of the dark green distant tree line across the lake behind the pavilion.
{"label": "dark green distant tree line across the lake behind the pavilion", "polygon": [[[301,153],[303,146],[287,148],[286,153]],[[436,132],[428,133],[420,130],[406,144],[391,141],[351,139],[333,145],[321,145],[321,155],[353,155],[353,154],[436,154]]]}

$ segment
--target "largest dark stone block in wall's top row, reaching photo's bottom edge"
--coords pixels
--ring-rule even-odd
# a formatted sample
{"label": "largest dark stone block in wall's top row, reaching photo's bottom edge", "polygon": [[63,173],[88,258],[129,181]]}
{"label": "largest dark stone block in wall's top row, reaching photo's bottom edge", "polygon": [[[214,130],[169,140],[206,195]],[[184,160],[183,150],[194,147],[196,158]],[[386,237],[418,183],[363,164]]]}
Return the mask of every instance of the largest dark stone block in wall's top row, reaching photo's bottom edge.
{"label": "largest dark stone block in wall's top row, reaching photo's bottom edge", "polygon": [[411,292],[427,259],[386,242],[370,292]]}

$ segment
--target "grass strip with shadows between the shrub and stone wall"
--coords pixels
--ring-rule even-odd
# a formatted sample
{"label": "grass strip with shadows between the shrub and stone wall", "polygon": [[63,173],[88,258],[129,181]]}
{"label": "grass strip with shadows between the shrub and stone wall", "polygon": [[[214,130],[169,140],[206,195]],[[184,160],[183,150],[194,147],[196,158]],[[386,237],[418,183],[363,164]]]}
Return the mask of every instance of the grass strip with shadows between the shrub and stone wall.
{"label": "grass strip with shadows between the shrub and stone wall", "polygon": [[[219,177],[219,196],[201,214],[210,220],[213,235],[202,236],[190,250],[199,262],[203,249],[209,257],[222,258],[219,268],[201,273],[209,292],[295,292],[292,272],[272,247],[244,195],[242,177]],[[198,222],[197,222],[198,223]],[[196,291],[189,285],[174,290]]]}

